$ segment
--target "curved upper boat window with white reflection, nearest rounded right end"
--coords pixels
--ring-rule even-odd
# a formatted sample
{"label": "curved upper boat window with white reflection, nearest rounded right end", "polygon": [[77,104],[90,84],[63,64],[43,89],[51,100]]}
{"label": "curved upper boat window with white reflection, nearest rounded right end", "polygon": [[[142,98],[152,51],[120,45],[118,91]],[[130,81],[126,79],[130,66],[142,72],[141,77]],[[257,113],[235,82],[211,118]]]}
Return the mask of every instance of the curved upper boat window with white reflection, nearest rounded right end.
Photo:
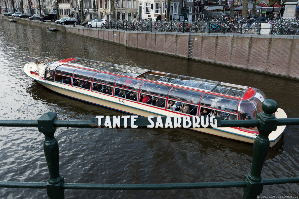
{"label": "curved upper boat window with white reflection, nearest rounded right end", "polygon": [[219,97],[217,95],[211,95],[208,93],[206,93],[200,101],[200,104],[203,106],[213,107],[231,112],[237,112],[238,103],[239,100],[237,99]]}

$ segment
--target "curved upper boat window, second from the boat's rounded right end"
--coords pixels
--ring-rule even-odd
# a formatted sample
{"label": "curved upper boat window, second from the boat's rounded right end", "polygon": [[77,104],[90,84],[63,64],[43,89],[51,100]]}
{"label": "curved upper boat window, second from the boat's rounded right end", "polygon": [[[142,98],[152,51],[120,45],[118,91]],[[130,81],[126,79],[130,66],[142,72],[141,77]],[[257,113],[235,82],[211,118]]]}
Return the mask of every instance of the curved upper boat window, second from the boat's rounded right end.
{"label": "curved upper boat window, second from the boat's rounded right end", "polygon": [[199,100],[202,94],[202,92],[190,91],[174,87],[170,90],[168,97],[172,99],[192,102],[193,104],[199,104]]}

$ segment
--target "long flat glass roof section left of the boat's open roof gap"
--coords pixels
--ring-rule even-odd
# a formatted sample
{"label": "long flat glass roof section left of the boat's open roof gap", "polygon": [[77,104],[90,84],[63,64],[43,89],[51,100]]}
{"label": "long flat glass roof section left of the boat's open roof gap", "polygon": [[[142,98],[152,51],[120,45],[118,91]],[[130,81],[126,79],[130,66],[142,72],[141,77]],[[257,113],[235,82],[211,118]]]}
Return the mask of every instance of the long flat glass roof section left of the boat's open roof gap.
{"label": "long flat glass roof section left of the boat's open roof gap", "polygon": [[150,71],[150,70],[145,70],[145,69],[140,69],[135,67],[109,64],[101,61],[93,61],[93,60],[83,59],[83,58],[78,58],[76,60],[66,62],[65,64],[71,66],[78,66],[78,67],[88,67],[100,71],[107,71],[115,74],[131,76],[131,77],[137,77],[143,73]]}

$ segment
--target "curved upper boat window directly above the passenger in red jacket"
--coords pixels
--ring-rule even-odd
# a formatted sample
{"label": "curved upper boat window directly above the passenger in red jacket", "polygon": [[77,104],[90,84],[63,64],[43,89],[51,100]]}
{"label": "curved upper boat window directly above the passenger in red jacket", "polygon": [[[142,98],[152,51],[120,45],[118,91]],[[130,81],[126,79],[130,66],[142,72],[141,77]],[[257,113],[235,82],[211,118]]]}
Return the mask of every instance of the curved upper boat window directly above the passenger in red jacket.
{"label": "curved upper boat window directly above the passenger in red jacket", "polygon": [[153,95],[161,94],[162,97],[166,97],[170,88],[171,88],[170,86],[165,86],[165,85],[156,84],[152,82],[144,82],[141,85],[140,90],[142,92],[147,92]]}

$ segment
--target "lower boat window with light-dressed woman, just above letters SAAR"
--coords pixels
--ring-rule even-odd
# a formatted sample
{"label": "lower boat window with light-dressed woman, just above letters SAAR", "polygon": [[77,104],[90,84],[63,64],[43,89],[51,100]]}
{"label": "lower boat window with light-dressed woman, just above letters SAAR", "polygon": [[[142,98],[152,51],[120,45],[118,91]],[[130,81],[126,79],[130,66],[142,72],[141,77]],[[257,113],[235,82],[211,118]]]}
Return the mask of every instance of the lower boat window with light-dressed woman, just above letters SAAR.
{"label": "lower boat window with light-dressed woman, just above letters SAAR", "polygon": [[198,106],[186,101],[168,100],[167,109],[188,115],[197,115]]}

